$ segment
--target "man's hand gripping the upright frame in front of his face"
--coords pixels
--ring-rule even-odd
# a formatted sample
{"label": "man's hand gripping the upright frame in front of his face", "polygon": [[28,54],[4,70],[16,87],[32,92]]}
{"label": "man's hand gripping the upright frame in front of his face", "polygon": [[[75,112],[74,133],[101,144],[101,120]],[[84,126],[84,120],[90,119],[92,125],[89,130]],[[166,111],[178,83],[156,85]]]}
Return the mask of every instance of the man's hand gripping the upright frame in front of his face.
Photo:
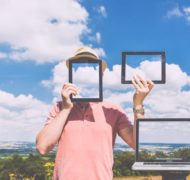
{"label": "man's hand gripping the upright frame in front of his face", "polygon": [[71,83],[65,83],[61,90],[61,96],[63,100],[63,107],[64,109],[72,109],[73,103],[71,102],[70,95],[76,96],[78,93],[77,87]]}

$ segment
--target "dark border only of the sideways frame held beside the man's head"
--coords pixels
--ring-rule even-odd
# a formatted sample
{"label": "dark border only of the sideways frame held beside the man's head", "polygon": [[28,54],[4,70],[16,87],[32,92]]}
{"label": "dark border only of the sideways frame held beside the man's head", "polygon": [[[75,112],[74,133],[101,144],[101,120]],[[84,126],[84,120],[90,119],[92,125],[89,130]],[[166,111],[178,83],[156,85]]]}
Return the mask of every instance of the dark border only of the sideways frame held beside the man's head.
{"label": "dark border only of the sideways frame held beside the man's head", "polygon": [[161,79],[153,80],[154,84],[165,84],[166,83],[166,54],[164,51],[126,51],[122,52],[122,63],[121,63],[121,83],[132,84],[132,80],[126,80],[126,59],[128,55],[160,55],[161,56]]}

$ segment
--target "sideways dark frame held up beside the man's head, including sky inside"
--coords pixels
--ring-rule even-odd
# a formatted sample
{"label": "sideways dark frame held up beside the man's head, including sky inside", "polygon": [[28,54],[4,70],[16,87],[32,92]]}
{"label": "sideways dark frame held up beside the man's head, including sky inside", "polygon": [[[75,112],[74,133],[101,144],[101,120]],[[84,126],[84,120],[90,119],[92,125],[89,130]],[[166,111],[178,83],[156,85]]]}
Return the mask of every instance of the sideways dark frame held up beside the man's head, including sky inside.
{"label": "sideways dark frame held up beside the man's head, including sky inside", "polygon": [[122,83],[132,83],[139,75],[154,83],[165,83],[165,54],[163,52],[125,52],[122,56]]}

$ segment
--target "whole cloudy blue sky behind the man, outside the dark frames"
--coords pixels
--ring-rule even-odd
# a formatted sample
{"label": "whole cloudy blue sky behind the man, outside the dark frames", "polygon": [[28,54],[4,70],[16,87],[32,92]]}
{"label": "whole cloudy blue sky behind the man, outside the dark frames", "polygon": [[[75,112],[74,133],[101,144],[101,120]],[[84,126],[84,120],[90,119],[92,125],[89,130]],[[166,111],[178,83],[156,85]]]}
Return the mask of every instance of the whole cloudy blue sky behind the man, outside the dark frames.
{"label": "whole cloudy blue sky behind the man, outside the dark frames", "polygon": [[[106,60],[104,99],[131,121],[134,89],[120,83],[121,52],[165,51],[166,84],[147,97],[146,116],[190,117],[189,1],[0,0],[0,27],[0,141],[35,140],[68,81],[65,60],[81,46]],[[154,67],[139,69],[151,76]]]}

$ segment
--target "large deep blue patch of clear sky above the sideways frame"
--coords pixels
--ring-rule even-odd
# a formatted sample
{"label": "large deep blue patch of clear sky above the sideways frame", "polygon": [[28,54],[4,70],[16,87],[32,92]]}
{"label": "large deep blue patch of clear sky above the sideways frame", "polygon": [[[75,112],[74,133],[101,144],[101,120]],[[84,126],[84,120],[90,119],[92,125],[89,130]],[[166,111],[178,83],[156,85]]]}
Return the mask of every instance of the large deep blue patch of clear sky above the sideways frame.
{"label": "large deep blue patch of clear sky above the sideways frame", "polygon": [[[94,4],[90,1],[88,4],[86,1],[87,9],[93,14],[94,7],[102,2]],[[107,52],[110,67],[120,62],[123,50],[164,50],[168,62],[178,63],[190,73],[187,64],[190,57],[190,24],[184,17],[167,16],[175,8],[188,6],[188,1],[115,0],[104,1],[103,4],[107,18],[92,15],[90,23],[102,34],[102,46]],[[96,20],[95,24],[93,20]]]}

